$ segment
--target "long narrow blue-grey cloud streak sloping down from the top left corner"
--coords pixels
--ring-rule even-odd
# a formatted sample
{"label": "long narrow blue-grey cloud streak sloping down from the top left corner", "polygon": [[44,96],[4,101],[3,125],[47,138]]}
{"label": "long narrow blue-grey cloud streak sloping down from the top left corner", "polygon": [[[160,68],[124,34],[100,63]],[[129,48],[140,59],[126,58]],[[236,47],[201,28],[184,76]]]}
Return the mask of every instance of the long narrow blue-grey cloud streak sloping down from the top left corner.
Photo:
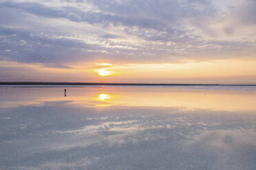
{"label": "long narrow blue-grey cloud streak sloping down from the top left corner", "polygon": [[153,19],[140,19],[140,18],[133,18],[130,19],[129,17],[118,16],[113,14],[105,14],[103,12],[83,12],[78,8],[74,7],[65,7],[61,9],[46,7],[45,5],[41,5],[41,3],[17,3],[17,2],[5,2],[2,3],[6,8],[17,8],[20,10],[24,10],[25,12],[34,14],[36,16],[43,16],[49,18],[63,18],[69,19],[70,21],[74,22],[87,22],[91,24],[96,23],[112,23],[112,24],[122,24],[125,26],[139,26],[139,27],[146,27],[146,28],[157,28],[161,25],[156,25]]}

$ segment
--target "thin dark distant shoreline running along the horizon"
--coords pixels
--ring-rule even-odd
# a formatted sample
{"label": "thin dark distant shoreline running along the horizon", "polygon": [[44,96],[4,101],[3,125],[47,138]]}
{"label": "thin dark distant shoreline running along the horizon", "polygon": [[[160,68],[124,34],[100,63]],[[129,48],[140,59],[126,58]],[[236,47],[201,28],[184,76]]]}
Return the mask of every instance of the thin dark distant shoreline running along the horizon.
{"label": "thin dark distant shoreline running along the horizon", "polygon": [[153,84],[98,82],[0,82],[0,86],[256,86],[256,84]]}

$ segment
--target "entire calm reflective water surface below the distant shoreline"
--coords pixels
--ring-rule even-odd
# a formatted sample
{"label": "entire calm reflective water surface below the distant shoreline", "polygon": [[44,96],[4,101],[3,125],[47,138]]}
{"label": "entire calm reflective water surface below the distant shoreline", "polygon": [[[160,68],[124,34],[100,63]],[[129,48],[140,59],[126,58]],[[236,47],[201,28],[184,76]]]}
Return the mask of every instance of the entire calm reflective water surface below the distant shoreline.
{"label": "entire calm reflective water surface below the distant shoreline", "polygon": [[256,87],[0,87],[0,169],[256,169]]}

